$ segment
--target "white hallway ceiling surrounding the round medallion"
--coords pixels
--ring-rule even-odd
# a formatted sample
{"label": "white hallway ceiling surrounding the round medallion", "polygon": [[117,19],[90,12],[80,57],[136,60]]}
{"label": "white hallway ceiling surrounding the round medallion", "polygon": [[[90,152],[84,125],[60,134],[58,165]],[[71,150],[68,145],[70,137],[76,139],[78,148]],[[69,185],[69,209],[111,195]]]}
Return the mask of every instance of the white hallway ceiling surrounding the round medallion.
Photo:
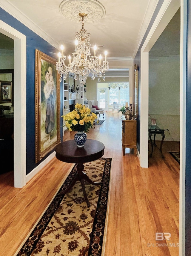
{"label": "white hallway ceiling surrounding the round medallion", "polygon": [[[88,0],[82,0],[88,1]],[[81,22],[73,22],[59,11],[62,0],[1,0],[0,7],[23,22],[57,49],[64,45],[64,54],[74,52],[76,31]],[[85,23],[91,45],[108,52],[111,60],[130,60],[147,29],[158,0],[100,0],[105,16],[97,22]],[[108,59],[108,60],[109,60]]]}

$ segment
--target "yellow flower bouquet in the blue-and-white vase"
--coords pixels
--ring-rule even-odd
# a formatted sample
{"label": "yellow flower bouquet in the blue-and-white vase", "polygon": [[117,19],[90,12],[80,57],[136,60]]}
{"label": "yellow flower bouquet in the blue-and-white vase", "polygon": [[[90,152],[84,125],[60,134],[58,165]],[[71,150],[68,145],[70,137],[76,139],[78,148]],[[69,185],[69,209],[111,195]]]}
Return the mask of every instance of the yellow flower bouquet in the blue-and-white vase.
{"label": "yellow flower bouquet in the blue-and-white vase", "polygon": [[76,104],[75,109],[66,115],[61,116],[65,121],[65,127],[69,131],[88,132],[97,118],[89,108],[82,104]]}

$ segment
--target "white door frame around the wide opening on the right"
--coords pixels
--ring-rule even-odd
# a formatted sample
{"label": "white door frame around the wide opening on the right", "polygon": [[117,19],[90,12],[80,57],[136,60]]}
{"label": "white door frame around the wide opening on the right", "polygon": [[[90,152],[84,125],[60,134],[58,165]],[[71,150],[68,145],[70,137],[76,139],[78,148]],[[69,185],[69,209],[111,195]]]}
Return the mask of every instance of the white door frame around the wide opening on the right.
{"label": "white door frame around the wide opening on the right", "polygon": [[140,165],[148,168],[149,51],[181,6],[179,255],[185,255],[186,1],[165,0],[141,48]]}

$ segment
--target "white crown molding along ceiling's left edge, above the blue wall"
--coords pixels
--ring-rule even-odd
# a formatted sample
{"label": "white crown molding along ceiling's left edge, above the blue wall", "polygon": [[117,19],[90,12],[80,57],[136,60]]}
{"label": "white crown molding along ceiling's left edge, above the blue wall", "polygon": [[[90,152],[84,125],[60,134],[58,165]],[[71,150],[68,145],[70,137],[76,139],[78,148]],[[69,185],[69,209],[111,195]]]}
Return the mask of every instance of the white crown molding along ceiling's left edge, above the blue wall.
{"label": "white crown molding along ceiling's left edge, above the blue wall", "polygon": [[24,13],[19,11],[9,1],[1,0],[0,7],[4,9],[7,13],[12,15],[14,18],[19,20],[22,24],[24,24],[27,28],[32,30],[34,33],[42,37],[45,41],[50,43],[56,49],[59,49],[59,44],[52,37],[47,35],[41,28],[39,28],[34,22],[32,22],[26,15],[24,15]]}

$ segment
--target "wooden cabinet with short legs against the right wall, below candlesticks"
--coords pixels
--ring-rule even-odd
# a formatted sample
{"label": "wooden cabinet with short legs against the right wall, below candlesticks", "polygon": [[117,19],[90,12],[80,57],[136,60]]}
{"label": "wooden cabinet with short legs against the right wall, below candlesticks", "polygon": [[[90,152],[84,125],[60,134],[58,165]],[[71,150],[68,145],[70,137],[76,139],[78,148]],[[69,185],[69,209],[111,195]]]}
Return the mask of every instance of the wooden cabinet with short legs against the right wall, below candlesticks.
{"label": "wooden cabinet with short legs against the right wall, below candlesticks", "polygon": [[125,116],[122,119],[122,147],[123,156],[125,155],[125,148],[134,148],[134,153],[137,153],[137,121],[135,118],[126,120]]}

